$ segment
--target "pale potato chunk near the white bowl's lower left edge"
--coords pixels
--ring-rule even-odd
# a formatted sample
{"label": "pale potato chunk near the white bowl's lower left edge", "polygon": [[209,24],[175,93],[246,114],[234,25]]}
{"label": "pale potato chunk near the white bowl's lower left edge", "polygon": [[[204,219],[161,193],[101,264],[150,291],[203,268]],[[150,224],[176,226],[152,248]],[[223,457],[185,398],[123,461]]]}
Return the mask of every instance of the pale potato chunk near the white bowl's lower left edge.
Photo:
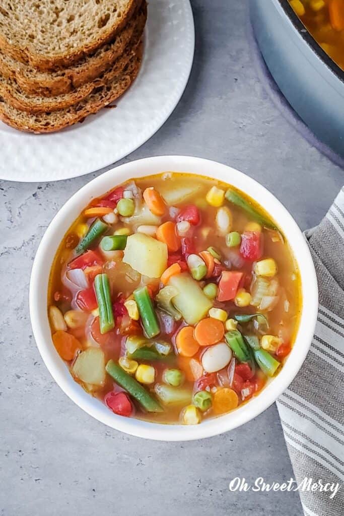
{"label": "pale potato chunk near the white bowl's lower left edge", "polygon": [[81,351],[71,367],[74,378],[92,385],[104,385],[105,355],[100,348]]}

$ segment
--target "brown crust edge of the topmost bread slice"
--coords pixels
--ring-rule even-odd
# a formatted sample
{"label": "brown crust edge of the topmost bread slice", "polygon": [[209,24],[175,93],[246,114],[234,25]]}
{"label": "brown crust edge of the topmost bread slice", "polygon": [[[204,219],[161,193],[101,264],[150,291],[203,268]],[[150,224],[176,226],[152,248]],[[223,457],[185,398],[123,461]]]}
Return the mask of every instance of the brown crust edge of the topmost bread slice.
{"label": "brown crust edge of the topmost bread slice", "polygon": [[101,37],[94,39],[79,48],[73,49],[68,54],[61,53],[60,55],[42,55],[35,52],[29,46],[16,46],[9,42],[2,34],[0,34],[0,50],[10,57],[29,63],[31,66],[43,72],[54,71],[61,68],[69,68],[77,61],[85,59],[87,56],[99,49],[100,46],[111,41],[127,24],[128,20],[133,16],[135,10],[140,4],[140,0],[129,0],[126,10],[123,12],[120,23],[116,26],[108,27],[103,31]]}

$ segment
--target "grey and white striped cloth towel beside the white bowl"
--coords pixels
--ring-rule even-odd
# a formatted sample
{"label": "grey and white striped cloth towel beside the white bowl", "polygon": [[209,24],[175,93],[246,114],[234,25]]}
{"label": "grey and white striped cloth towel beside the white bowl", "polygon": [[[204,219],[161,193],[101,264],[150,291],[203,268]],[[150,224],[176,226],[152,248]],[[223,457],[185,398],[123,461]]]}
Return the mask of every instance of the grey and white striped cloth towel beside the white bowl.
{"label": "grey and white striped cloth towel beside the white bowl", "polygon": [[318,321],[307,358],[277,408],[304,513],[343,516],[344,187],[305,236],[318,277]]}

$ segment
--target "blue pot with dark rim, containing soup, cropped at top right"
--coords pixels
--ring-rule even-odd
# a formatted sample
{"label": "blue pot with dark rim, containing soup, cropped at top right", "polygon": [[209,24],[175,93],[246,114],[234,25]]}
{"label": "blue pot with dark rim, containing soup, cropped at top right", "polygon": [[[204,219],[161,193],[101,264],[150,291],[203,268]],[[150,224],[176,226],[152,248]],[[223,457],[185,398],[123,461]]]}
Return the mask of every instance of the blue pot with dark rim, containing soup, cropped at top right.
{"label": "blue pot with dark rim, containing soup, cropped at top right", "polygon": [[264,60],[310,130],[344,157],[343,0],[250,0]]}

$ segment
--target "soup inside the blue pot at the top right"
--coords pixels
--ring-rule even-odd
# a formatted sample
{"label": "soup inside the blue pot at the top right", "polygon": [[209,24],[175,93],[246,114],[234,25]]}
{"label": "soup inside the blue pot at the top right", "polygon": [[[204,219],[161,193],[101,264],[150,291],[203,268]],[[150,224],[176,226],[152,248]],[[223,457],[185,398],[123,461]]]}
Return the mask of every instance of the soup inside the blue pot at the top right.
{"label": "soup inside the blue pot at the top right", "polygon": [[344,70],[344,0],[289,0],[308,32]]}

